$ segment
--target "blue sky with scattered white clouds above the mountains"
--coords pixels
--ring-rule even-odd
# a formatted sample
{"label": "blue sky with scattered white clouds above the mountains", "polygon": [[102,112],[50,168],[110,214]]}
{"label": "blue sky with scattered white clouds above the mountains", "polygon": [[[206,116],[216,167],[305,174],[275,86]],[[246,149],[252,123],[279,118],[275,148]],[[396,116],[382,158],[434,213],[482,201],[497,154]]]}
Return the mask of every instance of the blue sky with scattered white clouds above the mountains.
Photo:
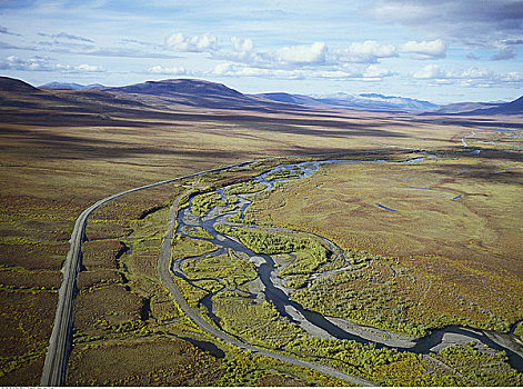
{"label": "blue sky with scattered white clouds above the mountains", "polygon": [[0,74],[33,86],[511,101],[522,59],[515,0],[0,0]]}

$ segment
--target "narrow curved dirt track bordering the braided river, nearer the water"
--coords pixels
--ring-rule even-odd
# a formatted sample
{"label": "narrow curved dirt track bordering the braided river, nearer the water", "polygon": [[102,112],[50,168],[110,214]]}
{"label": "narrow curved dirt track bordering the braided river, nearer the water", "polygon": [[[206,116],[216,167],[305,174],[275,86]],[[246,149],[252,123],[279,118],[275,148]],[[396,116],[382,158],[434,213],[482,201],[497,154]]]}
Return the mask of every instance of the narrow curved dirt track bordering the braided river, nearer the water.
{"label": "narrow curved dirt track bordering the braided river, nearer the water", "polygon": [[345,372],[342,372],[342,371],[336,370],[334,368],[331,368],[329,366],[324,366],[324,365],[311,362],[311,361],[308,361],[308,360],[302,360],[302,359],[289,357],[289,356],[281,355],[281,353],[278,353],[278,352],[273,352],[273,351],[270,351],[270,350],[261,349],[261,348],[254,347],[252,345],[243,343],[240,340],[238,340],[237,338],[233,338],[233,337],[218,330],[217,328],[211,326],[209,322],[203,320],[203,318],[200,315],[198,315],[198,312],[192,307],[190,307],[189,303],[185,301],[185,298],[183,297],[180,289],[178,288],[178,286],[173,281],[171,272],[170,272],[171,242],[172,242],[172,238],[173,238],[173,233],[174,233],[174,229],[175,229],[174,221],[177,220],[177,215],[178,215],[177,201],[178,201],[178,199],[174,200],[174,202],[173,202],[173,205],[170,209],[170,212],[169,212],[167,232],[165,232],[165,236],[163,237],[163,240],[162,240],[162,246],[161,246],[160,255],[159,255],[159,258],[158,258],[157,271],[158,271],[158,276],[160,277],[161,282],[169,290],[169,292],[171,293],[171,296],[173,297],[174,301],[178,303],[180,309],[198,327],[200,327],[205,332],[219,338],[220,340],[222,340],[225,343],[233,345],[233,346],[235,346],[238,348],[241,348],[243,350],[250,350],[252,353],[255,353],[255,355],[259,355],[259,356],[262,356],[262,357],[276,359],[276,360],[279,360],[281,362],[284,362],[284,363],[301,366],[301,367],[304,367],[304,368],[308,368],[308,369],[311,369],[311,370],[319,371],[323,375],[328,375],[328,376],[331,376],[331,377],[335,377],[335,378],[345,380],[345,381],[354,383],[356,386],[362,386],[362,387],[376,386],[374,382],[364,380],[364,379],[355,377],[355,376],[348,375]]}

